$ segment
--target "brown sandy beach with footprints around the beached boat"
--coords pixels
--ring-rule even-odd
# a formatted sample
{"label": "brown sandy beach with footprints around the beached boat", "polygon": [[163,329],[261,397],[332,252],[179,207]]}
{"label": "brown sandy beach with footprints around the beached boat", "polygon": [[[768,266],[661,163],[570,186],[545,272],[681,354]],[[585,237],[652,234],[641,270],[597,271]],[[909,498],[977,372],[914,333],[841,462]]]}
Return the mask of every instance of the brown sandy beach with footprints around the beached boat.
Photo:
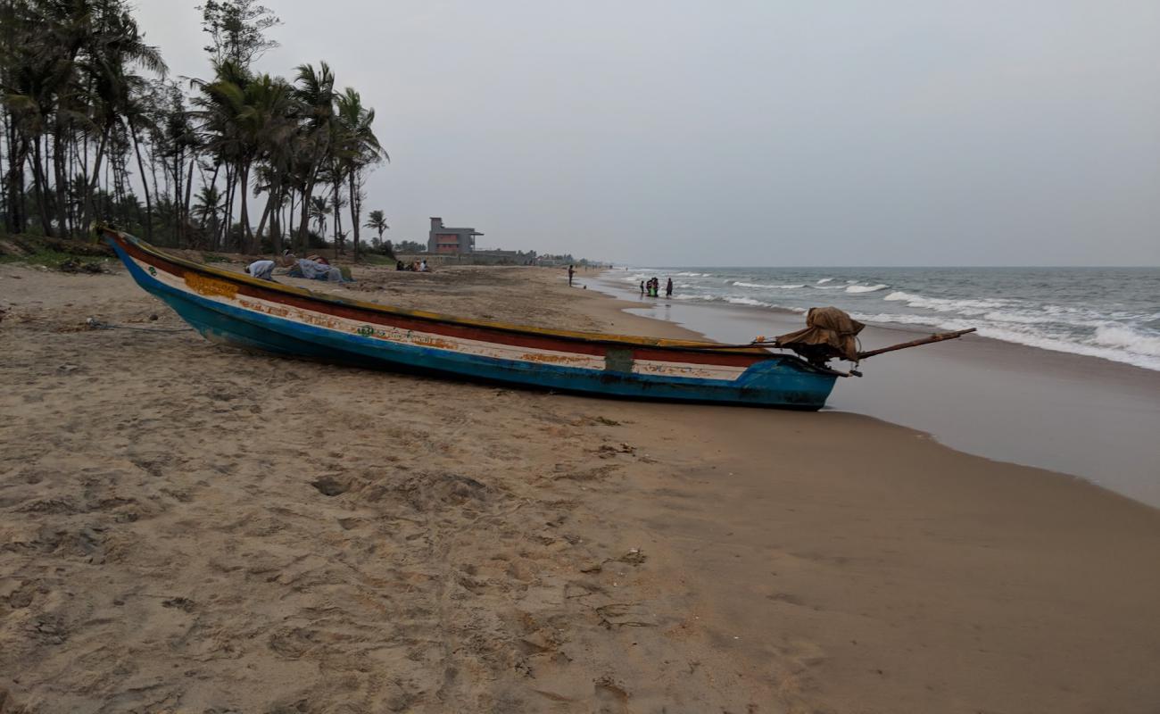
{"label": "brown sandy beach with footprints around the beached boat", "polygon": [[[680,333],[536,268],[356,275],[338,290]],[[0,266],[0,308],[5,714],[1160,702],[1160,511],[1082,481],[840,411],[86,329],[182,326],[123,269]]]}

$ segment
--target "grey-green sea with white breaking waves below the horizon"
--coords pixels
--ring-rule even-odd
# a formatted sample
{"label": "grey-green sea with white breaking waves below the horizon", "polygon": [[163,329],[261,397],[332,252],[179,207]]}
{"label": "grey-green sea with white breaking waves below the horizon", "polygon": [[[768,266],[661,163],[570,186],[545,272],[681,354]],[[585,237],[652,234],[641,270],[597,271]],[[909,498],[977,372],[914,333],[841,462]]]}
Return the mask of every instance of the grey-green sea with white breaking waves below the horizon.
{"label": "grey-green sea with white breaking waves below the horizon", "polygon": [[875,324],[979,334],[1160,370],[1160,268],[664,268],[674,300],[805,312],[834,305]]}

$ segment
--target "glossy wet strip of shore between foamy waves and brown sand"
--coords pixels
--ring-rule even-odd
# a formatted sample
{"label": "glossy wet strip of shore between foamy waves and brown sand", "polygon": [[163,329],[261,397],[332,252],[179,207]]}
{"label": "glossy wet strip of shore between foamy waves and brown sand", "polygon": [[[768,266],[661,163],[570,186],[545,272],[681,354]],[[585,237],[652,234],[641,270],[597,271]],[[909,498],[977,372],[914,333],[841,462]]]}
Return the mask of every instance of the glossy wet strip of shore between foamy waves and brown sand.
{"label": "glossy wet strip of shore between foamy waves and brown sand", "polygon": [[[715,340],[748,341],[797,330],[804,320],[797,312],[748,305],[641,303],[608,273],[586,280],[635,303],[629,310],[636,315]],[[868,324],[861,337],[870,349],[928,333]],[[1152,457],[1160,402],[1148,396],[1160,394],[1160,373],[978,336],[868,360],[862,370],[863,378],[835,385],[827,410],[919,430],[965,453],[1079,476],[1160,507]]]}

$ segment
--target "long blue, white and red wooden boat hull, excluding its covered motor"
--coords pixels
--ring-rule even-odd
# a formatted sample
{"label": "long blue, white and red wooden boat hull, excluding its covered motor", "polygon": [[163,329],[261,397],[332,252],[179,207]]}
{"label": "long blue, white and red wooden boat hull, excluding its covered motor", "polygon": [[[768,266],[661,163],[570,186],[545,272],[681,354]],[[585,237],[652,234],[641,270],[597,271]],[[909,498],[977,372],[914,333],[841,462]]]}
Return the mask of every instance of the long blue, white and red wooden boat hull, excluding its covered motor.
{"label": "long blue, white and red wooden boat hull, excluding its covered motor", "polygon": [[843,373],[761,346],[461,319],[320,295],[101,228],[142,288],[208,339],[364,367],[560,391],[818,410]]}

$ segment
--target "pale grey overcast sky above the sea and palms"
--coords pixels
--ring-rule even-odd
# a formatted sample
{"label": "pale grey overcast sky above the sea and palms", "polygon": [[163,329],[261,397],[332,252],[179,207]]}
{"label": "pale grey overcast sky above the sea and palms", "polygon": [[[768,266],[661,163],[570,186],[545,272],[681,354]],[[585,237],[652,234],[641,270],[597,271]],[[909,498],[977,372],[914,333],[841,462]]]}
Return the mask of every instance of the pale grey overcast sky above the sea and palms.
{"label": "pale grey overcast sky above the sea and palms", "polygon": [[[196,0],[138,0],[206,77]],[[266,0],[378,111],[367,208],[651,265],[1160,265],[1160,2]]]}

